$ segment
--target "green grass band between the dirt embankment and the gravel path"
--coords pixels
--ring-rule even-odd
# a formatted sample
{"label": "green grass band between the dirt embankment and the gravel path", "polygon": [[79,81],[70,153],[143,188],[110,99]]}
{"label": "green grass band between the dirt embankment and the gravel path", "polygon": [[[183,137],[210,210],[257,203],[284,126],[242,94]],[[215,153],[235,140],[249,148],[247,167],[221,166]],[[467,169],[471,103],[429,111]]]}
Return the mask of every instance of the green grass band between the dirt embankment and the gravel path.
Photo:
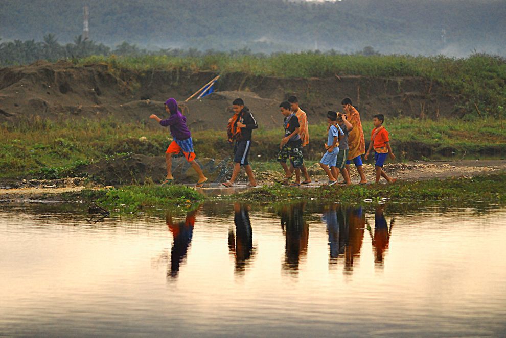
{"label": "green grass band between the dirt embankment and the gravel path", "polygon": [[[468,157],[499,156],[506,152],[505,119],[388,119],[398,160],[448,156],[452,152]],[[372,124],[363,122],[365,135]],[[326,126],[310,125],[311,143],[306,159],[321,156],[320,144],[325,141]],[[255,132],[251,157],[255,162],[275,160],[282,131],[260,129]],[[147,141],[140,141],[145,136]],[[34,119],[24,124],[0,125],[0,177],[60,178],[73,176],[84,164],[110,159],[117,154],[139,153],[163,155],[169,144],[169,132],[141,123],[118,123],[114,120],[49,121]],[[230,153],[225,131],[195,131],[198,157],[222,159]],[[420,153],[420,149],[426,149]],[[428,152],[427,152],[428,151]],[[257,157],[261,154],[261,158]],[[256,161],[255,161],[256,160]]]}

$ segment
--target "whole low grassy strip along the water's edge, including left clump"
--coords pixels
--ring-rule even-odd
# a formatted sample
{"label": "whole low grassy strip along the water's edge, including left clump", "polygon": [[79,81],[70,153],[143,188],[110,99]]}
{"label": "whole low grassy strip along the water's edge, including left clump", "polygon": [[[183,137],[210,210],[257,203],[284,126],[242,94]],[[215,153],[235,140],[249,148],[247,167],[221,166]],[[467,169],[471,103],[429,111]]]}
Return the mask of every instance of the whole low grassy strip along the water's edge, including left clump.
{"label": "whole low grassy strip along the water's edge, including left clump", "polygon": [[[395,202],[422,201],[506,201],[506,173],[465,178],[400,181],[393,185],[367,185],[352,187],[291,188],[281,185],[264,186],[227,197],[248,202],[279,202],[315,200],[360,203],[370,198],[379,201],[388,198]],[[67,197],[76,199],[75,195]],[[132,211],[149,207],[190,207],[204,199],[198,191],[185,186],[125,186],[118,189],[84,190],[79,196],[87,202],[96,201],[109,210]]]}

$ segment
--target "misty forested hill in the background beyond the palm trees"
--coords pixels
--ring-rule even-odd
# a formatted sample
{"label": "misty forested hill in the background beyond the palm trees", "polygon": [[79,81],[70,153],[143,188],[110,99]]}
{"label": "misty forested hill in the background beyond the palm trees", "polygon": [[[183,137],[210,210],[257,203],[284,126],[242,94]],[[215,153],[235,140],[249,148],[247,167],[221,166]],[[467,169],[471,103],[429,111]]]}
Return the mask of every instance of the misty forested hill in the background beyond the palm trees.
{"label": "misty forested hill in the background beyond the palm trees", "polygon": [[84,4],[91,39],[109,45],[506,55],[504,0],[0,0],[0,38],[72,41]]}

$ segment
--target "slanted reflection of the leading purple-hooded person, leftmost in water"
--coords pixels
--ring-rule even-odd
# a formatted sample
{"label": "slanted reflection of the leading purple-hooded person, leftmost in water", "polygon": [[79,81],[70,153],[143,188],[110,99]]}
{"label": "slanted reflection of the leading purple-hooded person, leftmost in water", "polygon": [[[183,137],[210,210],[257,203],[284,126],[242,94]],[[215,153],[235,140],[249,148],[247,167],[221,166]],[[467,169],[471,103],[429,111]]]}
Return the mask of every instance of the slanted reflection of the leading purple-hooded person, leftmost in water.
{"label": "slanted reflection of the leading purple-hooded person, leftmost in water", "polygon": [[172,232],[172,248],[170,252],[170,271],[167,272],[167,278],[177,278],[179,267],[186,258],[188,248],[192,242],[193,227],[195,225],[195,214],[199,208],[186,214],[184,222],[174,223],[172,213],[167,212],[166,220],[170,232]]}

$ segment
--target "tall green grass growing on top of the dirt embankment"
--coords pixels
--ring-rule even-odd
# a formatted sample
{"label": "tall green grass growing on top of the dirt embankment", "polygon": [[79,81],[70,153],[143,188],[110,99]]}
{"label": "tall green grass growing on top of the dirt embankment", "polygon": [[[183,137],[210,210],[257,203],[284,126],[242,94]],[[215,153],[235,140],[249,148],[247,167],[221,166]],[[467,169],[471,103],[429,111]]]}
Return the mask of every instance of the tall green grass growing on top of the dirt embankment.
{"label": "tall green grass growing on top of the dirt embankment", "polygon": [[333,77],[364,75],[372,77],[419,76],[456,93],[459,105],[469,114],[475,104],[484,115],[505,116],[506,60],[475,54],[465,59],[399,55],[324,55],[314,52],[275,54],[269,57],[213,54],[203,57],[116,57],[94,56],[77,65],[106,63],[111,71],[182,70],[242,72],[277,77]]}

